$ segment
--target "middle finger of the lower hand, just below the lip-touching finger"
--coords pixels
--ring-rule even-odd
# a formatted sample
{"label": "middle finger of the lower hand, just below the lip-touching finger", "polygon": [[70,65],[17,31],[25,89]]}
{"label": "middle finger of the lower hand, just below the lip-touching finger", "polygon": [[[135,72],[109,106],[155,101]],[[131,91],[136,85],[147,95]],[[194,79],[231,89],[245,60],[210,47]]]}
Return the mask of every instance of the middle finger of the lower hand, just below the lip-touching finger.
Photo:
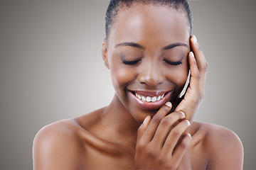
{"label": "middle finger of the lower hand, just below the lip-touching finger", "polygon": [[155,147],[162,148],[169,132],[174,128],[178,120],[185,118],[183,112],[174,112],[164,117],[153,137],[152,143]]}

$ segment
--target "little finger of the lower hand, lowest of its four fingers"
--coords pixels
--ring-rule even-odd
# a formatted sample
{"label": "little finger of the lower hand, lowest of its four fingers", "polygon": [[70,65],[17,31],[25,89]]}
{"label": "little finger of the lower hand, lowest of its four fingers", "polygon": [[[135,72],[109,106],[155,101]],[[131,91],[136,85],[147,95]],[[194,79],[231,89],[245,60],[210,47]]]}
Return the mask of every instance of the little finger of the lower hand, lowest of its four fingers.
{"label": "little finger of the lower hand, lowest of its four fingers", "polygon": [[183,139],[175,148],[172,154],[172,159],[174,159],[175,162],[178,162],[178,163],[181,162],[181,159],[183,158],[183,155],[185,154],[186,149],[188,149],[191,140],[192,140],[192,137],[189,133],[183,136]]}

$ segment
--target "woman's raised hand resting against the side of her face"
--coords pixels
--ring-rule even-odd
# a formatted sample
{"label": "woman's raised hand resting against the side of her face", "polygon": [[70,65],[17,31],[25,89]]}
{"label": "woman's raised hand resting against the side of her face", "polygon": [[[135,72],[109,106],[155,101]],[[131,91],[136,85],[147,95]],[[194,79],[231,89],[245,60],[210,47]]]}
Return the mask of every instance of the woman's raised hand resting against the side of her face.
{"label": "woman's raised hand resting against the side of her face", "polygon": [[182,97],[181,102],[178,102],[179,104],[174,111],[182,111],[185,113],[186,119],[192,122],[198,106],[200,106],[204,98],[208,66],[195,35],[191,37],[190,42],[192,52],[188,54],[188,63],[191,77],[186,94]]}

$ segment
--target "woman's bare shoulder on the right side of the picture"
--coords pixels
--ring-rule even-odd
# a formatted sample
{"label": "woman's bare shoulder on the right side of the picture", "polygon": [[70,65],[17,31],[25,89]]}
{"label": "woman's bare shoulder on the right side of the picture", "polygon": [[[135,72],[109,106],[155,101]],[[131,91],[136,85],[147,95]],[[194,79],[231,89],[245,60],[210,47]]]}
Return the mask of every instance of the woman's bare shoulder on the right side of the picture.
{"label": "woman's bare shoulder on the right side of the picture", "polygon": [[210,123],[196,123],[196,127],[210,153],[208,169],[242,169],[243,147],[235,132]]}

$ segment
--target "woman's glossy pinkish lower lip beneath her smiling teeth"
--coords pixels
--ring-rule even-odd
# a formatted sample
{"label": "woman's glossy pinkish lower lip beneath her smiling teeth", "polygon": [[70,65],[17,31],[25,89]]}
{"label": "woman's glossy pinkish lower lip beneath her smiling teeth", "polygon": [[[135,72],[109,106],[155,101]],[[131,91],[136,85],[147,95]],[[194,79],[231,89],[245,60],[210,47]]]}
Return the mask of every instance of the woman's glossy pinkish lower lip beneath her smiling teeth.
{"label": "woman's glossy pinkish lower lip beneath her smiling teeth", "polygon": [[142,101],[139,98],[137,98],[131,91],[129,91],[129,95],[132,96],[132,99],[140,107],[147,109],[147,110],[154,110],[154,109],[160,108],[161,106],[164,105],[164,103],[167,102],[169,96],[171,95],[171,91],[169,91],[167,94],[165,94],[164,98],[161,98],[160,101],[154,101],[154,102]]}

